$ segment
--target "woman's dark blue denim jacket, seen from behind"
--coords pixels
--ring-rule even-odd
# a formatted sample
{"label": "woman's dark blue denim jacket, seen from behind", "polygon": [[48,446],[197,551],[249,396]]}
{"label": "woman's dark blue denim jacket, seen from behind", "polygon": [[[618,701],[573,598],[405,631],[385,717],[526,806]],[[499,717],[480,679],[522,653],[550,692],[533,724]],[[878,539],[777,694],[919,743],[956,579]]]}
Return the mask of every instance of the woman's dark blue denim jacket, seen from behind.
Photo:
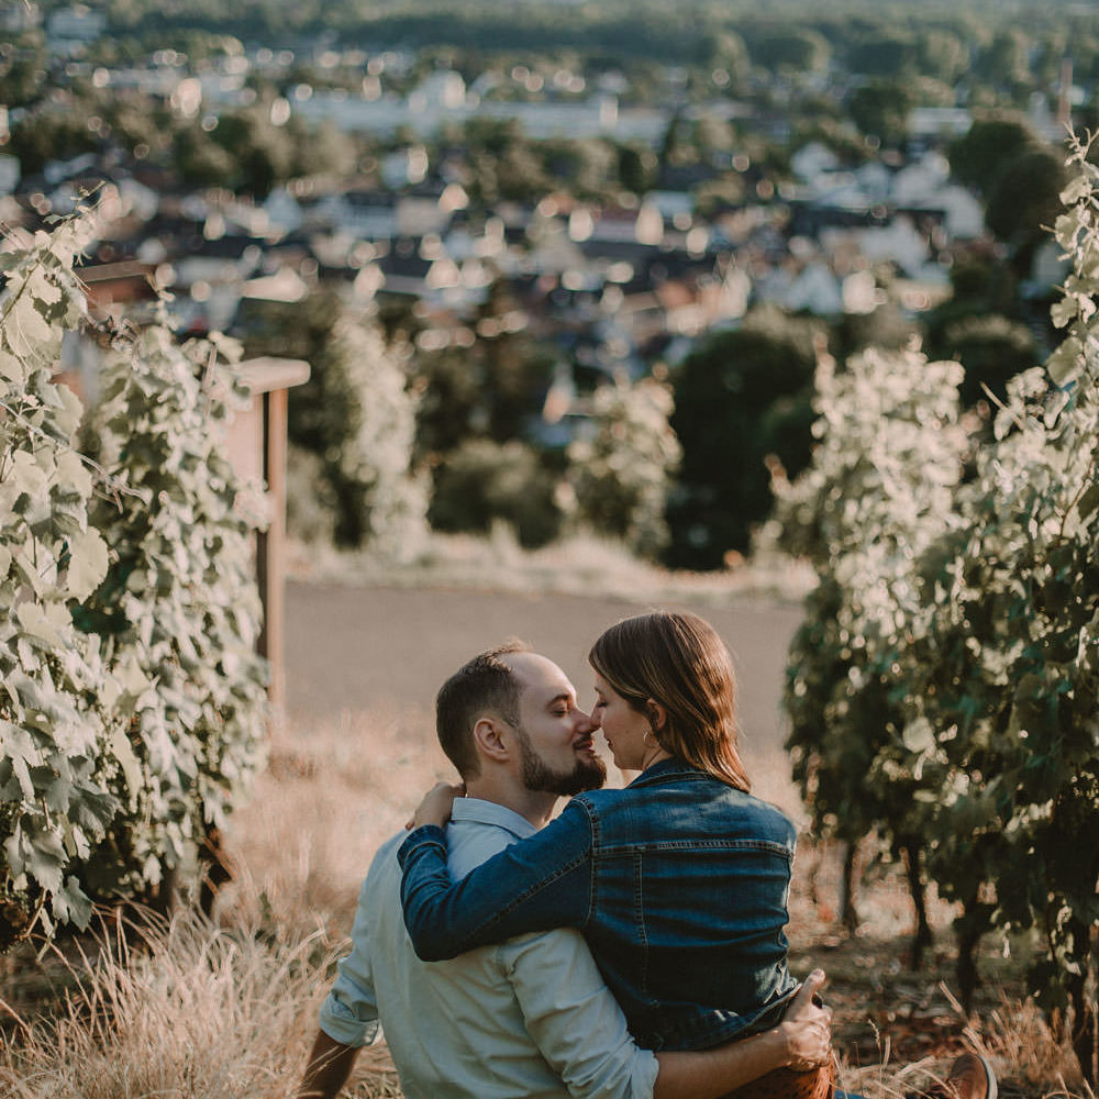
{"label": "woman's dark blue denim jacket, seen from behind", "polygon": [[[699,1050],[773,1025],[786,966],[793,825],[681,759],[581,793],[452,884],[443,833],[398,852],[404,922],[441,961],[528,931],[578,928],[639,1045]],[[546,974],[546,980],[553,980]]]}

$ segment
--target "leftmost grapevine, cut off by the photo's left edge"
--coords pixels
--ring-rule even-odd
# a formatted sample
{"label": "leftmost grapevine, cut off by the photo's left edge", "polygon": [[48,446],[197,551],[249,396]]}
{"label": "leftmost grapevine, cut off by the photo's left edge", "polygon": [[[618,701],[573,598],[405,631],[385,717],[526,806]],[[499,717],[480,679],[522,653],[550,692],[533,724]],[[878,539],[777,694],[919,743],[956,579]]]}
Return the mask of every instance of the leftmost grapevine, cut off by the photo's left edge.
{"label": "leftmost grapevine, cut off by the photo's left edge", "polygon": [[56,385],[62,338],[86,311],[73,275],[84,226],[0,255],[0,945],[86,925],[76,873],[118,811],[120,728],[87,704],[122,695],[69,607],[101,581],[92,478],[75,449],[79,400]]}

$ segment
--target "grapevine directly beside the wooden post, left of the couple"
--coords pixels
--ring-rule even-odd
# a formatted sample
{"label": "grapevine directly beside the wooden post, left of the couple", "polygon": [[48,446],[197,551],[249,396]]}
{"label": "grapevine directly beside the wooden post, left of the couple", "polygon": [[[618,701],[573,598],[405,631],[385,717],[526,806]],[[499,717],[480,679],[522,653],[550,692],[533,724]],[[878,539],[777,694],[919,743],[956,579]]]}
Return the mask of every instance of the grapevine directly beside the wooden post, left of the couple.
{"label": "grapevine directly beside the wooden post, left of the couple", "polygon": [[112,560],[76,619],[135,703],[134,797],[85,870],[98,896],[164,899],[262,762],[259,601],[243,486],[222,453],[243,399],[235,355],[223,338],[180,345],[162,321],[116,342],[100,371],[92,433],[130,492],[92,506]]}

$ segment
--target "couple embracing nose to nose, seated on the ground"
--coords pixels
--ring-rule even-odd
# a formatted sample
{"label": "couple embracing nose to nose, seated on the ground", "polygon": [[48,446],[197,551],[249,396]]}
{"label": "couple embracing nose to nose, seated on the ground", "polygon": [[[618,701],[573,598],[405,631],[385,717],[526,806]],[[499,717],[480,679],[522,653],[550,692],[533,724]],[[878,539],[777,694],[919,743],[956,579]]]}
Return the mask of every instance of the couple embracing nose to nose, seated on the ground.
{"label": "couple embracing nose to nose, seated on the ground", "polygon": [[[464,786],[378,852],[300,1096],[334,1097],[379,1022],[409,1099],[839,1094],[823,974],[787,967],[795,830],[748,792],[725,646],[657,612],[589,662],[590,714],[519,644],[440,690]],[[601,789],[597,730],[625,789]],[[995,1099],[972,1054],[943,1087]]]}

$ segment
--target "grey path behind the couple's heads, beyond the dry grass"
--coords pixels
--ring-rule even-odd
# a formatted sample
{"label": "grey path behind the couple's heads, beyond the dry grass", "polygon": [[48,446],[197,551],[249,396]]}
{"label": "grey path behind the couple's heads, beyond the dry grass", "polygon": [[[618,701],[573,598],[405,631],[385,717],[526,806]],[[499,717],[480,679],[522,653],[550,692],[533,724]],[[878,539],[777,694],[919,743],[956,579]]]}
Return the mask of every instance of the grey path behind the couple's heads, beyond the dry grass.
{"label": "grey path behind the couple's heads, beyond the dry grass", "polygon": [[[668,609],[689,609],[664,604]],[[509,636],[556,660],[590,702],[588,646],[647,603],[573,596],[291,582],[287,588],[287,710],[299,728],[345,710],[415,706],[430,713],[439,685],[466,659]],[[702,612],[736,662],[745,764],[763,797],[798,804],[778,710],[796,608],[743,603]]]}

